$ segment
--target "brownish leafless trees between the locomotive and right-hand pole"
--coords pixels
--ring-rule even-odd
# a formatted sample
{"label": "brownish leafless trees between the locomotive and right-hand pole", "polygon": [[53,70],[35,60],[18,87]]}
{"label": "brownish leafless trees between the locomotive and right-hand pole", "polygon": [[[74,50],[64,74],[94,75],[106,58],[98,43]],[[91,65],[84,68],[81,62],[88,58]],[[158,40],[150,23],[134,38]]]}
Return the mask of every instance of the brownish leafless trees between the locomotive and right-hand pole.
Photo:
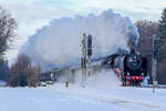
{"label": "brownish leafless trees between the locomotive and right-hand pole", "polygon": [[[138,41],[138,51],[142,56],[147,57],[148,59],[148,72],[151,74],[152,70],[152,40],[153,34],[157,34],[158,32],[158,22],[153,22],[148,20],[139,20],[135,23],[139,32],[139,41]],[[151,81],[152,83],[152,75]]]}

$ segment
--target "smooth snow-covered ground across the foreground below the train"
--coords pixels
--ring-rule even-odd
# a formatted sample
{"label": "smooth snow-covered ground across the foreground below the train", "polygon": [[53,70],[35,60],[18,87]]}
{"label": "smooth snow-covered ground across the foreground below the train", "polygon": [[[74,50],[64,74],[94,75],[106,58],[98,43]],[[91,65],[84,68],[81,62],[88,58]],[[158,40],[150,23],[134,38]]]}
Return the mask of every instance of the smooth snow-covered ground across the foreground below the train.
{"label": "smooth snow-covered ground across the foreground below the train", "polygon": [[0,88],[0,111],[166,111],[166,90],[81,88]]}

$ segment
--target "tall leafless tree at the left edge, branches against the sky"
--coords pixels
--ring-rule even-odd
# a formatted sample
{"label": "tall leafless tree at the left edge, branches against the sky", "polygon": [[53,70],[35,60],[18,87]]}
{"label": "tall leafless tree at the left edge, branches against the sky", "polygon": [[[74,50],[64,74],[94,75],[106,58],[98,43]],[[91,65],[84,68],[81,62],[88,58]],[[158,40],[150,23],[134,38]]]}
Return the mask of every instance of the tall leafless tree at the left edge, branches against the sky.
{"label": "tall leafless tree at the left edge, branches against the sky", "polygon": [[9,46],[15,37],[18,24],[11,14],[0,7],[0,56],[9,49]]}

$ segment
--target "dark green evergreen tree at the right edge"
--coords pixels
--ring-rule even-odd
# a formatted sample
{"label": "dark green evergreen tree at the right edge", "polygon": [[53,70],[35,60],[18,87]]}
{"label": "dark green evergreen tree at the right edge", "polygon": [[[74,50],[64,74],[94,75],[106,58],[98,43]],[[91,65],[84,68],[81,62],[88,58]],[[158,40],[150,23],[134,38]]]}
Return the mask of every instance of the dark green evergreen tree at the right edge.
{"label": "dark green evergreen tree at the right edge", "polygon": [[163,10],[158,29],[158,61],[166,58],[166,8]]}

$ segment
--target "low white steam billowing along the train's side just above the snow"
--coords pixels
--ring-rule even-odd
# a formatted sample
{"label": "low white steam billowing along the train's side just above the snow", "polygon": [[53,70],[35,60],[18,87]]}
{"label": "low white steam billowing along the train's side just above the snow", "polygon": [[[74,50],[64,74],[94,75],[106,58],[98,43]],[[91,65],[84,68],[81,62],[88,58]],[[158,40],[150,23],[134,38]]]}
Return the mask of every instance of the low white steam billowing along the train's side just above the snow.
{"label": "low white steam billowing along the train's side just above the snow", "polygon": [[[73,78],[68,77],[69,73],[62,74],[58,78],[58,82],[63,83],[66,81],[74,80],[74,84],[82,84],[82,72],[81,70],[76,71],[76,74]],[[113,71],[98,71],[97,73],[92,72],[91,75],[86,75],[84,81],[87,88],[95,88],[95,89],[110,89],[114,87],[120,87],[121,80],[117,78],[115,72]]]}

